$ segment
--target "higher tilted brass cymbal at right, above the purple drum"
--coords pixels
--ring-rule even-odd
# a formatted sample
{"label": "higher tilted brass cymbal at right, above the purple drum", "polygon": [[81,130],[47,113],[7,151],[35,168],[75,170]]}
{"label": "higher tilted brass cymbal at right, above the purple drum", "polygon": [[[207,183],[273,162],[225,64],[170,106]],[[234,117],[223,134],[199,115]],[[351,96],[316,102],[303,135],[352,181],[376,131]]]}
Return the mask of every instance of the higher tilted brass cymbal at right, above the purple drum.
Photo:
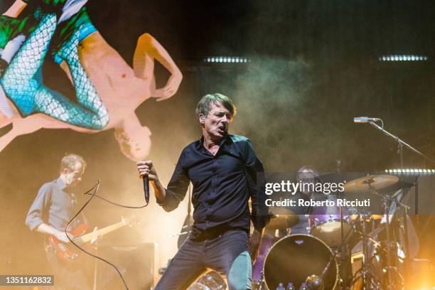
{"label": "higher tilted brass cymbal at right, above the purple drum", "polygon": [[370,190],[381,190],[389,186],[394,185],[399,181],[397,176],[391,176],[387,174],[375,175],[375,176],[364,176],[361,178],[354,179],[353,181],[348,181],[344,185],[345,192],[347,193],[358,193]]}

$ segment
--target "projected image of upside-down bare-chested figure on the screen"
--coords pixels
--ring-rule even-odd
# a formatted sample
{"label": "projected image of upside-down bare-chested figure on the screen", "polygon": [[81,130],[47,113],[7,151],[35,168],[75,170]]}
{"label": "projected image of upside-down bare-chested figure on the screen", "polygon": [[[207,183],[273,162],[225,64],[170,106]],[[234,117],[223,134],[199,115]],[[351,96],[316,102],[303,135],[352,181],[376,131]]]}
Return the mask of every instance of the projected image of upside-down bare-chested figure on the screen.
{"label": "projected image of upside-down bare-chested figure on the screen", "polygon": [[[92,25],[86,1],[26,2],[16,0],[0,18],[0,127],[12,124],[0,137],[0,151],[16,136],[43,128],[114,129],[125,156],[147,156],[151,131],[134,111],[149,97],[172,97],[182,79],[165,48],[149,33],[142,34],[131,68]],[[74,100],[44,85],[42,65],[51,57],[72,82]],[[159,89],[155,60],[171,73]]]}

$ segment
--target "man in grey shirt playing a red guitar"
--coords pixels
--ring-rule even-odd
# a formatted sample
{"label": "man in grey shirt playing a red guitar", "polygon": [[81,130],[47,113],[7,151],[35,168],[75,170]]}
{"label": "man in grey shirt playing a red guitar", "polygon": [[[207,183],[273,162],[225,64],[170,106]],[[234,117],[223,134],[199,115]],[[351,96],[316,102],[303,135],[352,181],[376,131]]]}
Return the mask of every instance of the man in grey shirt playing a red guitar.
{"label": "man in grey shirt playing a red guitar", "polygon": [[[65,227],[76,213],[77,198],[70,193],[70,188],[77,185],[85,172],[86,162],[77,154],[66,154],[60,162],[60,176],[45,183],[38,191],[36,199],[28,210],[26,225],[30,230],[50,235],[49,240],[56,240],[60,244],[68,245]],[[83,215],[71,222],[68,232],[77,225],[85,222]],[[70,235],[73,239],[73,235]],[[48,244],[46,247],[48,262],[55,275],[55,289],[91,289],[82,269],[78,263],[62,262],[58,259],[59,251],[63,250]]]}

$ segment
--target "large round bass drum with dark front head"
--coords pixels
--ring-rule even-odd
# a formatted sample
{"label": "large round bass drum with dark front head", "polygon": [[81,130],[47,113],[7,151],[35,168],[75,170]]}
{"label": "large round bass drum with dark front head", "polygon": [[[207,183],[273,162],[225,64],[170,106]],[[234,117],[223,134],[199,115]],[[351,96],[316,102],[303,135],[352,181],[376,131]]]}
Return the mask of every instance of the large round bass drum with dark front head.
{"label": "large round bass drum with dark front head", "polygon": [[[270,249],[264,261],[264,282],[274,290],[279,283],[293,282],[296,289],[308,276],[320,276],[331,258],[331,249],[311,235],[289,235]],[[323,277],[324,289],[335,289],[338,266],[333,260]]]}

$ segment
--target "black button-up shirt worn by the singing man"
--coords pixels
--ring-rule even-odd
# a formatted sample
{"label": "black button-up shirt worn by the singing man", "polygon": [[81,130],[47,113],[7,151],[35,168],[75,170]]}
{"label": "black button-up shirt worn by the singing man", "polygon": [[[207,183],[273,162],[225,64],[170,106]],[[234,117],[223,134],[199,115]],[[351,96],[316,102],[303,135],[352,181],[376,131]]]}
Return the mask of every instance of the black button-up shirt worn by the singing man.
{"label": "black button-up shirt worn by the singing man", "polygon": [[254,227],[264,227],[264,169],[249,139],[227,134],[215,156],[204,148],[203,138],[186,146],[165,199],[157,202],[166,211],[174,210],[186,196],[189,181],[193,184],[193,239],[207,239],[227,230],[249,232],[249,215]]}

